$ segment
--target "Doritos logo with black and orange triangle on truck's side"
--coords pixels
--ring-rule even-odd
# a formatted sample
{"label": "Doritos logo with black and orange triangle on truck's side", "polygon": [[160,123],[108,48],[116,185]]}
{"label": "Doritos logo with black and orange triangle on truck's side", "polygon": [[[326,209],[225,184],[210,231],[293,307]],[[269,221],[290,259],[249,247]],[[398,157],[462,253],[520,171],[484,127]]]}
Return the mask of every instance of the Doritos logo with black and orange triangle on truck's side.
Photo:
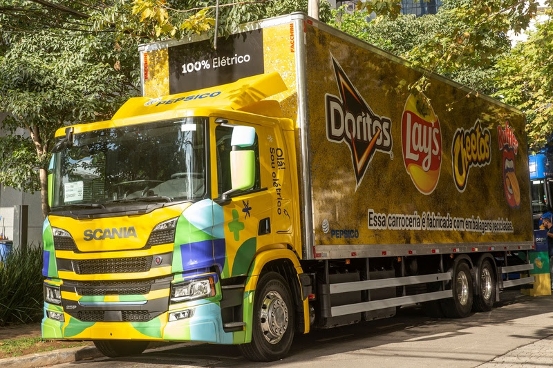
{"label": "Doritos logo with black and orange triangle on truck's side", "polygon": [[348,145],[357,191],[375,152],[391,153],[392,122],[373,113],[334,57],[332,64],[340,95],[325,95],[326,138]]}

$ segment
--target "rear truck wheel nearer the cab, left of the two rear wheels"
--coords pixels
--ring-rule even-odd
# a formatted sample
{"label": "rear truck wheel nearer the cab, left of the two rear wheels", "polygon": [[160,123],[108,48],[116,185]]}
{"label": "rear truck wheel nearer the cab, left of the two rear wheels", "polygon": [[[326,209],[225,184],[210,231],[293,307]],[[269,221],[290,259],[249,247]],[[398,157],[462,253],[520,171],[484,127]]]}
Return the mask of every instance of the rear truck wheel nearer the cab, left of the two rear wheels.
{"label": "rear truck wheel nearer the cab, left of the two rear wheels", "polygon": [[442,301],[442,309],[447,318],[465,318],[472,309],[473,287],[469,265],[466,262],[457,262],[453,269],[451,282],[453,298]]}

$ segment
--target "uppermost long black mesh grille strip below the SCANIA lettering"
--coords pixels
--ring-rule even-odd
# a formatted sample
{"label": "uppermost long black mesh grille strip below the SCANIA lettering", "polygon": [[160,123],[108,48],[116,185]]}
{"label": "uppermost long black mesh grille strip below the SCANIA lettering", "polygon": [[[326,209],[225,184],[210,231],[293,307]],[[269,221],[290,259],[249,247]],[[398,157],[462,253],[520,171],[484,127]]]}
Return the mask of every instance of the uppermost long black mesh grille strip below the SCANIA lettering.
{"label": "uppermost long black mesh grille strip below the SCANIA lettering", "polygon": [[151,255],[105,260],[73,260],[73,269],[77,275],[147,272],[150,270],[151,260]]}

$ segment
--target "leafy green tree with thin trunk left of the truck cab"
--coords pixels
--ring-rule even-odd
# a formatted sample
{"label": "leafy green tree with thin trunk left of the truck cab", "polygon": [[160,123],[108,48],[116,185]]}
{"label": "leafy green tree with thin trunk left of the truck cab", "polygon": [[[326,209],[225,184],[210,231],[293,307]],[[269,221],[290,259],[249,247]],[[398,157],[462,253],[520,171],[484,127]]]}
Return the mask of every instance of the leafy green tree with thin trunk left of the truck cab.
{"label": "leafy green tree with thin trunk left of the truck cab", "polygon": [[[13,17],[14,8],[26,10]],[[24,21],[38,14],[50,23],[32,28]],[[1,14],[0,22],[0,110],[7,113],[3,129],[12,133],[0,137],[0,181],[39,190],[46,217],[55,130],[108,119],[124,99],[138,94],[138,43],[115,42],[111,32],[93,33],[72,14],[28,1]],[[21,131],[26,134],[17,134]]]}

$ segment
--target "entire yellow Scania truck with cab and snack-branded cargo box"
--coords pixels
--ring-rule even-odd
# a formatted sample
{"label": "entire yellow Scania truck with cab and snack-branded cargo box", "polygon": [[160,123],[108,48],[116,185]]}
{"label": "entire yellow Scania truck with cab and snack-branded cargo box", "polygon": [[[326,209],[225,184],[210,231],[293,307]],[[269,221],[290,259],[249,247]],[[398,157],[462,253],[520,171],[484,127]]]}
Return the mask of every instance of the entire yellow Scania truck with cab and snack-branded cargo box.
{"label": "entire yellow Scania truck with cab and snack-branded cargo box", "polygon": [[549,277],[521,111],[440,75],[415,93],[422,70],[301,13],[210,42],[141,46],[143,97],[57,131],[44,338],[278,360],[296,333],[463,318]]}

